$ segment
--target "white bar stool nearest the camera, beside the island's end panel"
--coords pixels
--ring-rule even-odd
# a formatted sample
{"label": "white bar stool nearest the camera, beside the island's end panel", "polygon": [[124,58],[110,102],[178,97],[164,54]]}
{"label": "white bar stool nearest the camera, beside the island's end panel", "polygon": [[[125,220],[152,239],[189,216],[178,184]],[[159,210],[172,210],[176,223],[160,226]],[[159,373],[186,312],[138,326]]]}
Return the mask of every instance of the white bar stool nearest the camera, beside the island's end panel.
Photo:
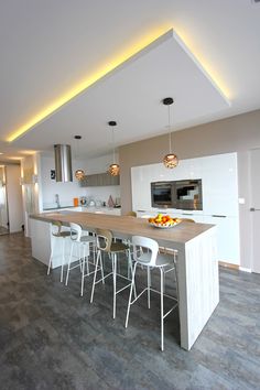
{"label": "white bar stool nearest the camera, beside the island's end panel", "polygon": [[[164,293],[164,277],[165,277],[165,273],[167,273],[170,271],[174,271],[174,277],[175,277],[174,279],[175,279],[175,283],[176,283],[176,293],[178,291],[177,290],[177,275],[176,275],[175,257],[170,256],[170,254],[160,253],[158,242],[151,238],[148,238],[148,237],[133,236],[132,237],[132,245],[133,245],[134,266],[133,266],[132,283],[131,283],[129,302],[128,302],[126,328],[128,327],[130,306],[147,291],[148,292],[148,307],[150,308],[150,291],[160,293],[160,295],[161,295],[161,350],[164,350],[164,318],[175,307],[177,307],[177,304],[178,304],[177,297],[170,296]],[[143,251],[140,252],[139,247],[142,247]],[[148,272],[148,286],[144,288],[141,291],[141,293],[138,294],[132,300],[132,291],[136,288],[134,278],[136,278],[137,266],[141,266],[142,268],[147,267],[149,270],[152,268],[159,269],[160,275],[161,275],[161,290],[158,291],[158,290],[151,289],[150,272]],[[164,296],[175,301],[174,305],[166,313],[164,313]]]}

